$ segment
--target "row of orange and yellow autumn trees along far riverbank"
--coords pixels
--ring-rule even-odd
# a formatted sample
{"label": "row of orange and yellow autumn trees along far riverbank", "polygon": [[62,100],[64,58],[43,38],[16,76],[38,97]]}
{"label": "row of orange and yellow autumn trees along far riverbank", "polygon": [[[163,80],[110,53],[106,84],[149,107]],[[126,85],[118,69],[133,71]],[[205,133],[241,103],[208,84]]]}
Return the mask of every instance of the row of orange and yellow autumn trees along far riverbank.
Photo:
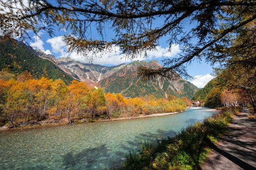
{"label": "row of orange and yellow autumn trees along far riverbank", "polygon": [[0,76],[2,125],[8,122],[15,126],[32,120],[94,121],[185,109],[186,103],[178,98],[127,99],[120,94],[104,93],[102,88],[89,89],[83,82],[75,80],[67,86],[61,79],[31,79],[29,73],[12,78]]}

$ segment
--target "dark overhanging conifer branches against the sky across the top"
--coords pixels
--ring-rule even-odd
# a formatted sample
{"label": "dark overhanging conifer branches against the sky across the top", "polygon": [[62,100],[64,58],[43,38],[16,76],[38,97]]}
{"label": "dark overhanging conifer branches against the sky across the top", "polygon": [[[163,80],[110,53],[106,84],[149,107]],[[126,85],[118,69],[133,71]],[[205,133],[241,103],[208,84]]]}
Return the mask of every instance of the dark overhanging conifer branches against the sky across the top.
{"label": "dark overhanging conifer branches against the sky across the top", "polygon": [[[229,63],[225,49],[241,37],[238,51],[248,51],[243,61],[256,61],[254,55],[247,57],[255,47],[247,41],[255,40],[255,0],[0,0],[0,6],[2,34],[26,40],[31,32],[53,36],[65,30],[69,51],[87,60],[116,46],[127,59],[146,57],[161,40],[169,44],[169,51],[172,44],[182,46],[179,57],[164,60],[164,68],[139,67],[144,78],[171,77],[173,71],[189,77],[186,65],[193,60]],[[108,37],[108,31],[115,34]]]}

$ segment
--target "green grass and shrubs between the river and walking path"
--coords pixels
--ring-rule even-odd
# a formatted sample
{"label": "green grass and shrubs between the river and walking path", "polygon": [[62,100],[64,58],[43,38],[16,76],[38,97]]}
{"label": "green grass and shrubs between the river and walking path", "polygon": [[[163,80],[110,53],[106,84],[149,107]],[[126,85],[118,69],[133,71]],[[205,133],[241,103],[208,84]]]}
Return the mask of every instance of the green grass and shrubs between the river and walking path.
{"label": "green grass and shrubs between the river and walking path", "polygon": [[126,156],[123,170],[196,170],[217,143],[239,108],[225,108],[181,130],[174,137],[144,142]]}

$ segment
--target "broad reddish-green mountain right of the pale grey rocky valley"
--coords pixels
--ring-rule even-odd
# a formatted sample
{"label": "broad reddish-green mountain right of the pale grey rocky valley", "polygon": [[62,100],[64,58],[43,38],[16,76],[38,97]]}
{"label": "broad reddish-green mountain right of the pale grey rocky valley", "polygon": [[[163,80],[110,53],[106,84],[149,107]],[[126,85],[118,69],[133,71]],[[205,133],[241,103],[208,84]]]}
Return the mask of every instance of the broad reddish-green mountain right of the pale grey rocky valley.
{"label": "broad reddish-green mountain right of the pale grey rocky valley", "polygon": [[135,61],[120,68],[116,73],[102,79],[100,86],[110,93],[120,93],[126,97],[138,97],[153,95],[154,97],[187,97],[191,99],[198,90],[196,86],[182,79],[175,80],[155,79],[153,81],[142,82],[141,77],[137,76],[137,67],[143,65],[148,68],[162,67],[157,61]]}

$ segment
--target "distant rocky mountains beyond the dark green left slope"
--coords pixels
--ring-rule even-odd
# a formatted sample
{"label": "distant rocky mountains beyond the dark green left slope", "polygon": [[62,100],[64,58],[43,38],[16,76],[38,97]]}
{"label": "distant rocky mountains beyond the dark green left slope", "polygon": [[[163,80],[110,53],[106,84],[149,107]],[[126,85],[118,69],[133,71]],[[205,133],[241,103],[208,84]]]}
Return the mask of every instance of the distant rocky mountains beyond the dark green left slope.
{"label": "distant rocky mountains beyond the dark green left slope", "polygon": [[156,60],[134,61],[119,66],[101,66],[76,62],[70,57],[56,59],[53,55],[47,55],[40,50],[36,50],[36,53],[39,57],[52,61],[61,71],[85,82],[89,88],[102,87],[106,93],[120,93],[129,97],[145,95],[166,97],[170,94],[191,98],[198,90],[196,86],[181,77],[175,80],[155,79],[142,82],[137,75],[137,67],[143,65],[153,69],[161,68],[162,65]]}

